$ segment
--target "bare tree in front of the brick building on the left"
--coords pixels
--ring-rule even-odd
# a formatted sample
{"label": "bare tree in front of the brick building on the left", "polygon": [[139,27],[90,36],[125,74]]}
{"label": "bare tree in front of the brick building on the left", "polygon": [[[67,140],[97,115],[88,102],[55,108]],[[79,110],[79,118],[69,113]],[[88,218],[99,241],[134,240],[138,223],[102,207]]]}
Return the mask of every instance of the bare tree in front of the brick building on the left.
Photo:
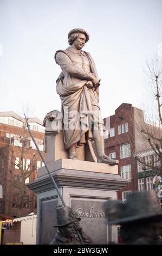
{"label": "bare tree in front of the brick building on the left", "polygon": [[[29,134],[25,126],[24,121],[22,135],[17,138],[19,145],[8,150],[10,146],[6,144],[1,148],[0,154],[0,184],[5,188],[3,200],[17,208],[17,217],[23,216],[23,209],[36,200],[35,193],[29,190],[27,183],[30,178],[31,181],[35,177],[37,156],[31,154]],[[27,154],[30,156],[30,163],[26,160]]]}

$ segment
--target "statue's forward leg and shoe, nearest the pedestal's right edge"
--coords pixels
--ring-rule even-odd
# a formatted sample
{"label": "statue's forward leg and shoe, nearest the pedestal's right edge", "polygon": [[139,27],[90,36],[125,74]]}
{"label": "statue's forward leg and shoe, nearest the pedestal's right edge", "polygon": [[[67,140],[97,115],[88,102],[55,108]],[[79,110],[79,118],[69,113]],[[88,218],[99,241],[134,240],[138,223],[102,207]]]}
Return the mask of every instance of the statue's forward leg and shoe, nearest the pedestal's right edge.
{"label": "statue's forward leg and shoe, nearest the pedestal's right edge", "polygon": [[98,163],[108,163],[111,166],[118,164],[119,161],[111,159],[111,157],[105,154],[104,136],[103,136],[103,126],[99,125],[99,129],[93,130],[93,138],[95,142],[95,148],[98,155]]}

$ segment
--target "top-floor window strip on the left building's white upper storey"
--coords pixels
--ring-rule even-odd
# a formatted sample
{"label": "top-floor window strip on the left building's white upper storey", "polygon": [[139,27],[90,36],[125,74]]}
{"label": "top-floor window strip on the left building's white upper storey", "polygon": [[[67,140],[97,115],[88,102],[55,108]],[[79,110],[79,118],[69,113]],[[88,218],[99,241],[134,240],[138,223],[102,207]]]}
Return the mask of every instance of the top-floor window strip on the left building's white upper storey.
{"label": "top-floor window strip on the left building's white upper storey", "polygon": [[[17,127],[23,127],[23,121],[20,121],[14,117],[0,117],[0,123],[8,124]],[[29,123],[30,129],[33,131],[44,132],[45,127],[37,123]]]}

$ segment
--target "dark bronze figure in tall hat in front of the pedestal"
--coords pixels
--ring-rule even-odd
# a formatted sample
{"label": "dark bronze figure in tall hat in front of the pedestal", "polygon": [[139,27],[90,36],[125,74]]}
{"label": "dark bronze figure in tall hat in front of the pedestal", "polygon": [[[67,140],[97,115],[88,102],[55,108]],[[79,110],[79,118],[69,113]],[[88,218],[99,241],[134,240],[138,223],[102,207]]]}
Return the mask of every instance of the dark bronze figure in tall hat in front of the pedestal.
{"label": "dark bronze figure in tall hat in front of the pedestal", "polygon": [[83,242],[86,245],[92,244],[92,240],[82,230],[79,221],[80,217],[73,212],[68,206],[58,205],[56,208],[57,224],[54,227],[58,228],[53,241],[50,245],[81,245],[79,236],[76,230],[80,232]]}

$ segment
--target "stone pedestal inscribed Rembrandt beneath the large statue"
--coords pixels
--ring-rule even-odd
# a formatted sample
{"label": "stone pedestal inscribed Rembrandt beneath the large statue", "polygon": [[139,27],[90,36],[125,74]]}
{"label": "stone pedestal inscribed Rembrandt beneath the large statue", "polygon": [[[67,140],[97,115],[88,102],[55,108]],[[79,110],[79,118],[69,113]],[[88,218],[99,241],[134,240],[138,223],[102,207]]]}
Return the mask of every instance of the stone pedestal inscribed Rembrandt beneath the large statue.
{"label": "stone pedestal inscribed Rembrandt beneath the large statue", "polygon": [[[48,167],[64,202],[80,215],[83,231],[94,244],[116,241],[117,228],[107,225],[103,203],[116,199],[116,192],[129,182],[118,175],[118,166],[60,159]],[[49,244],[56,234],[55,208],[61,201],[45,167],[38,170],[38,178],[28,187],[38,196],[37,243]]]}

